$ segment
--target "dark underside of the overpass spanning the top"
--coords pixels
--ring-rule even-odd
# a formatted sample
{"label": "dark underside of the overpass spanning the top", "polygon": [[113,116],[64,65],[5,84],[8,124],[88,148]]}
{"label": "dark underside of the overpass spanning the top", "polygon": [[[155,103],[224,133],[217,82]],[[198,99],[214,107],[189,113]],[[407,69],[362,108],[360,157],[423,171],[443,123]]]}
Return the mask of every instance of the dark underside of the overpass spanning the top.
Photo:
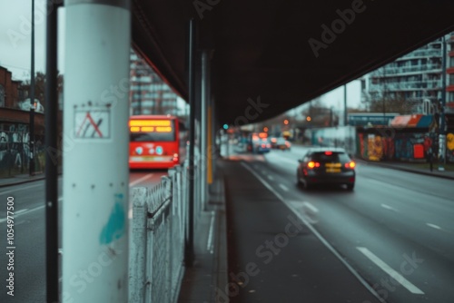
{"label": "dark underside of the overpass spanning the top", "polygon": [[187,24],[218,121],[260,122],[454,29],[452,0],[134,0],[133,45],[185,100]]}

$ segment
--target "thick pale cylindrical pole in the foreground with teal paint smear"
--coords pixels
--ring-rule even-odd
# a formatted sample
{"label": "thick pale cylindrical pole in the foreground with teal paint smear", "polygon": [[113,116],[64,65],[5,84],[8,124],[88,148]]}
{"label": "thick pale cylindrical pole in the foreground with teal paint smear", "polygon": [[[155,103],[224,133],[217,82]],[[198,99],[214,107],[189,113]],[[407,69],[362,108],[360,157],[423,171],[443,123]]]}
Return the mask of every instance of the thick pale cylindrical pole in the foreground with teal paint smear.
{"label": "thick pale cylindrical pole in the foreground with teal paint smear", "polygon": [[129,0],[65,1],[63,301],[128,300]]}

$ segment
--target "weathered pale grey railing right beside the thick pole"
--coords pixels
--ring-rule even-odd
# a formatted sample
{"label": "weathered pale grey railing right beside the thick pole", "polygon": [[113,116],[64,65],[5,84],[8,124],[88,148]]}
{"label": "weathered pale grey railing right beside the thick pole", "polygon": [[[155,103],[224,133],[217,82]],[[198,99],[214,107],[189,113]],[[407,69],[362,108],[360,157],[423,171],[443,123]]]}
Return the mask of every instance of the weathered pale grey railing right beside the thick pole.
{"label": "weathered pale grey railing right beside the thick pole", "polygon": [[194,175],[188,161],[175,166],[153,188],[134,188],[129,257],[129,302],[176,302],[184,273],[189,179],[194,178],[194,222],[203,210],[202,166],[195,153]]}

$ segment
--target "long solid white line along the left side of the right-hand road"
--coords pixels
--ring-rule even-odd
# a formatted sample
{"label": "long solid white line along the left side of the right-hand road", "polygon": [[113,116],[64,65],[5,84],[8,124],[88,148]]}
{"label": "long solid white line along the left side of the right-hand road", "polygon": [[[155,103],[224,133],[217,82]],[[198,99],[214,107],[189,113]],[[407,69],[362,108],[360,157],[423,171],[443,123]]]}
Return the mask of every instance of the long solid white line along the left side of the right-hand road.
{"label": "long solid white line along the left side of the right-hand road", "polygon": [[328,242],[327,239],[324,239],[323,236],[321,236],[321,234],[319,233],[319,231],[317,231],[312,225],[311,225],[311,222],[309,222],[301,213],[299,210],[295,209],[294,206],[291,204],[291,202],[288,202],[287,200],[284,200],[283,197],[281,196],[281,194],[277,191],[274,191],[274,189],[271,187],[271,185],[262,179],[262,177],[255,171],[252,170],[251,167],[249,167],[249,165],[245,164],[244,162],[242,162],[242,166],[248,170],[248,171],[251,171],[252,175],[255,176],[255,178],[257,178],[259,181],[262,182],[262,184],[268,189],[270,190],[279,200],[281,200],[281,202],[287,206],[289,208],[289,210],[291,210],[303,223],[304,225],[306,225],[306,227],[311,230],[311,232],[315,235],[315,237],[317,237],[317,239],[319,239],[321,241],[321,243],[331,251],[331,253],[341,261],[341,263],[350,271],[350,273],[355,276],[356,279],[358,279],[360,281],[360,283],[362,284],[362,286],[366,289],[368,289],[370,291],[370,293],[375,297],[377,298],[380,302],[384,302],[383,299],[381,299],[380,295],[377,293],[377,291],[372,288],[369,283],[363,279],[360,274],[356,271],[356,269],[353,269],[353,267],[351,267],[351,265],[345,260],[342,258],[341,254],[336,250],[334,249],[330,242]]}

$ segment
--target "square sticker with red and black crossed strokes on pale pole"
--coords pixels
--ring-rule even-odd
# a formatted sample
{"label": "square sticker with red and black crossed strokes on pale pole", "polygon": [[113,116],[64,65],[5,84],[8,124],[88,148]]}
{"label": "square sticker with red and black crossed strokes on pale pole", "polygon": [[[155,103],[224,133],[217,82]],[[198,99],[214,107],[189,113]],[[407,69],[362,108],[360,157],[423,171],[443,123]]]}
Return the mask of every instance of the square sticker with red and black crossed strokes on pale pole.
{"label": "square sticker with red and black crossed strokes on pale pole", "polygon": [[109,139],[110,113],[104,109],[74,112],[74,137],[77,139]]}

